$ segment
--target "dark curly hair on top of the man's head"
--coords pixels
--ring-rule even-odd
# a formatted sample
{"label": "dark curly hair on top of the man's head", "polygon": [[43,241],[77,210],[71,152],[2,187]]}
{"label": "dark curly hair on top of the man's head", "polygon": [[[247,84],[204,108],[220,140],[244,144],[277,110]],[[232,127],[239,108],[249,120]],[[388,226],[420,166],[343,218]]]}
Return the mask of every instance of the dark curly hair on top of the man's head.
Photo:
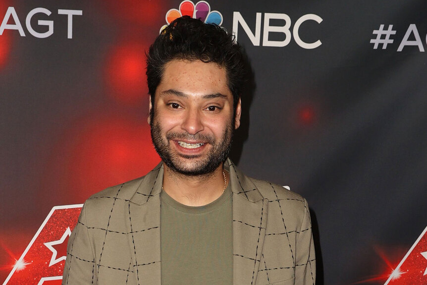
{"label": "dark curly hair on top of the man's head", "polygon": [[234,109],[237,107],[244,81],[243,54],[234,36],[227,34],[224,28],[183,16],[160,33],[147,54],[148,92],[153,106],[164,66],[174,59],[202,60],[225,67]]}

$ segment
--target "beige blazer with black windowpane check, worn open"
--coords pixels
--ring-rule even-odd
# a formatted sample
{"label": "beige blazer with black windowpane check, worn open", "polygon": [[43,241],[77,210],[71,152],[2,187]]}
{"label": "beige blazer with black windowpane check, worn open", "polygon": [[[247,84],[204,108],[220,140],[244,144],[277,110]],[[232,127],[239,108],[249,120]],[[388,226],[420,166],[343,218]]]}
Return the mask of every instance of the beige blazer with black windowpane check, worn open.
{"label": "beige blazer with black windowpane check, worn open", "polygon": [[[316,261],[304,198],[256,180],[227,160],[233,192],[233,284],[314,285]],[[163,165],[83,206],[67,249],[63,285],[160,285]]]}

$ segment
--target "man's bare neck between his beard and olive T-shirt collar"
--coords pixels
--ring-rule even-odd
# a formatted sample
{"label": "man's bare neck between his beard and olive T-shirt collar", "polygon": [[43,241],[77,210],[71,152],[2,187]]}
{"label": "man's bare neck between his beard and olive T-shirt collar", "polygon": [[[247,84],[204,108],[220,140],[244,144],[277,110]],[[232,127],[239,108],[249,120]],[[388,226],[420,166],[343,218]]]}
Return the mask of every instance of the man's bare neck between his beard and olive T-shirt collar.
{"label": "man's bare neck between his beard and olive T-shirt collar", "polygon": [[[163,191],[173,200],[187,206],[204,206],[222,195],[224,190],[224,175],[222,164],[208,174],[188,176],[169,169],[165,164],[163,174]],[[228,173],[226,184],[228,184]]]}

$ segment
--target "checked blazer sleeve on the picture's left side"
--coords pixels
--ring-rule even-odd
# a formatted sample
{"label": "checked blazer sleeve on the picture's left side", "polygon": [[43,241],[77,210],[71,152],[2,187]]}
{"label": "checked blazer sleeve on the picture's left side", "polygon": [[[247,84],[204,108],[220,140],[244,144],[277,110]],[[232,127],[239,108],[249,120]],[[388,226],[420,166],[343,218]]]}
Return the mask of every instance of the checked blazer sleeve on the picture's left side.
{"label": "checked blazer sleeve on the picture's left side", "polygon": [[68,240],[62,285],[96,284],[95,272],[95,258],[89,237],[85,203]]}

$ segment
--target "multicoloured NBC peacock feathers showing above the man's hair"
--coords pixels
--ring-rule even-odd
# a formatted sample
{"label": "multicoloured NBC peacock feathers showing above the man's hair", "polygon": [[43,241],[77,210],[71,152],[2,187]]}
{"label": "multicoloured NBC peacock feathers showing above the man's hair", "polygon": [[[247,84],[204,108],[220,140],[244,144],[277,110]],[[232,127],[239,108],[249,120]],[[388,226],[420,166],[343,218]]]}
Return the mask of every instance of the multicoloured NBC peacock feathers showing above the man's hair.
{"label": "multicoloured NBC peacock feathers showing above the man's hair", "polygon": [[[219,11],[211,11],[211,5],[207,1],[199,1],[196,4],[193,1],[185,0],[179,4],[179,9],[170,9],[166,13],[166,23],[169,25],[173,20],[182,16],[190,16],[195,19],[200,19],[207,24],[222,24],[222,14]],[[163,31],[167,25],[163,25],[160,29]]]}

